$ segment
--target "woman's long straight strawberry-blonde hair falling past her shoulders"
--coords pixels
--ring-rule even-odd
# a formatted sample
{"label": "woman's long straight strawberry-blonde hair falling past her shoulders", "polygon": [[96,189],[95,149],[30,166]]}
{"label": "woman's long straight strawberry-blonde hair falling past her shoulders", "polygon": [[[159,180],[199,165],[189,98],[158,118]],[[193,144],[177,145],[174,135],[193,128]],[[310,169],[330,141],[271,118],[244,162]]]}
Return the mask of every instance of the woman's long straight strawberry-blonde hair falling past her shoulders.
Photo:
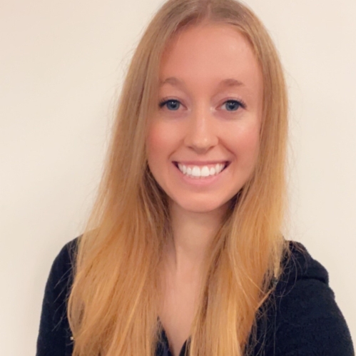
{"label": "woman's long straight strawberry-blonde hair falling past her shoulders", "polygon": [[233,198],[205,266],[190,330],[191,356],[242,356],[268,307],[288,244],[285,210],[288,100],[273,42],[234,0],[169,0],[153,17],[128,69],[98,198],[78,240],[68,320],[73,356],[152,356],[161,332],[163,246],[171,233],[166,194],[148,169],[146,121],[157,106],[163,50],[185,26],[234,26],[263,72],[263,124],[253,176]]}

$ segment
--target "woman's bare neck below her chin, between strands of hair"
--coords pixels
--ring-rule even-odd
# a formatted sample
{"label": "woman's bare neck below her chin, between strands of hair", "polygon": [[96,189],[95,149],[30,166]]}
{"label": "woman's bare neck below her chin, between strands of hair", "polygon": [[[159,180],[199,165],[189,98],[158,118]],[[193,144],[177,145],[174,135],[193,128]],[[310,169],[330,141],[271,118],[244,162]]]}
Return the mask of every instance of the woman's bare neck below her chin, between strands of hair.
{"label": "woman's bare neck below her chin, between strands of hair", "polygon": [[171,203],[173,238],[168,241],[167,253],[168,265],[173,272],[199,273],[224,213],[225,207],[206,213],[195,213],[184,210],[176,203]]}

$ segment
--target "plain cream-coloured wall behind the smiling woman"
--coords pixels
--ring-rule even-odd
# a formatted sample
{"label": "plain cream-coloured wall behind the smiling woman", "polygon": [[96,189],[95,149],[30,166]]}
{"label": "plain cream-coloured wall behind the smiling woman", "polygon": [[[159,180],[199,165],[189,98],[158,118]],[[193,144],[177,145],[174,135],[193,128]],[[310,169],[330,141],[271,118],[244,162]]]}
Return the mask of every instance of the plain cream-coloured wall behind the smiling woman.
{"label": "plain cream-coloured wall behind the smiling woman", "polygon": [[[81,233],[123,73],[158,0],[0,1],[0,345],[34,355],[51,263]],[[356,340],[356,1],[247,0],[290,91],[290,225]]]}

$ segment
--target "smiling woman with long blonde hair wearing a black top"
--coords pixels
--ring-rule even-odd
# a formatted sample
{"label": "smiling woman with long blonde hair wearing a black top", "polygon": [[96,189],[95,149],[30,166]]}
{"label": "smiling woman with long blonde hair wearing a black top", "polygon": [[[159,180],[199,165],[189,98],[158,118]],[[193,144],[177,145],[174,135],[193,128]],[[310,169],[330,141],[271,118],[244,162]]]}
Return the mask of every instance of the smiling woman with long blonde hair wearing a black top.
{"label": "smiling woman with long blonde hair wearing a black top", "polygon": [[281,234],[287,112],[250,10],[164,4],[86,233],[54,261],[37,355],[354,355],[325,268]]}

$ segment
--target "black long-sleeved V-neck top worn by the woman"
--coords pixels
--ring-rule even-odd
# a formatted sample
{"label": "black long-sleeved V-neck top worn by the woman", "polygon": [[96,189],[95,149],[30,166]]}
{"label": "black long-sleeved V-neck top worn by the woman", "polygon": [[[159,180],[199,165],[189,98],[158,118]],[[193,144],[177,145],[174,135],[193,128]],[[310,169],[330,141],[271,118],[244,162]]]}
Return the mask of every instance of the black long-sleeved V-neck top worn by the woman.
{"label": "black long-sleeved V-neck top worn by the woman", "polygon": [[[73,340],[66,317],[66,302],[73,283],[76,240],[64,245],[51,268],[41,312],[36,356],[71,356]],[[290,241],[292,255],[283,261],[273,307],[258,320],[252,356],[355,356],[350,331],[328,283],[327,270],[301,243]],[[189,342],[180,350],[185,355]],[[172,356],[162,332],[156,356]]]}

